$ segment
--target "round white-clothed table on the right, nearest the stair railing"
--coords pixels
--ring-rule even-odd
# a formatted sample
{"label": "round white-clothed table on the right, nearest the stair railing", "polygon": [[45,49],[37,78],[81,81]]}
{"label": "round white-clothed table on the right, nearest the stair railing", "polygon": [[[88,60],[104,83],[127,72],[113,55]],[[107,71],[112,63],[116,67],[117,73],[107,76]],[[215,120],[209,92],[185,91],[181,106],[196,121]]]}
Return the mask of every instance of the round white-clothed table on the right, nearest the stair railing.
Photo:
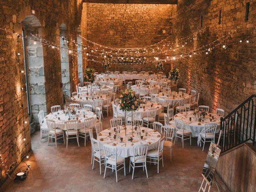
{"label": "round white-clothed table on the right, nearest the stair railing", "polygon": [[[212,114],[212,113],[208,113],[208,115],[205,116],[204,120],[202,120],[201,122],[196,121],[196,118],[193,115],[194,111],[189,111],[189,112],[183,112],[178,113],[176,115],[174,115],[174,120],[175,119],[180,119],[183,120],[185,123],[184,129],[190,131],[192,133],[192,137],[197,137],[197,144],[200,144],[201,141],[201,136],[200,134],[202,132],[204,132],[204,124],[206,123],[217,123],[217,129],[216,132],[220,132],[220,116],[216,115],[216,114]],[[211,117],[210,117],[211,115]],[[210,118],[212,118],[212,116],[214,116],[214,120],[210,121]],[[189,118],[191,117],[191,121],[189,120]]]}

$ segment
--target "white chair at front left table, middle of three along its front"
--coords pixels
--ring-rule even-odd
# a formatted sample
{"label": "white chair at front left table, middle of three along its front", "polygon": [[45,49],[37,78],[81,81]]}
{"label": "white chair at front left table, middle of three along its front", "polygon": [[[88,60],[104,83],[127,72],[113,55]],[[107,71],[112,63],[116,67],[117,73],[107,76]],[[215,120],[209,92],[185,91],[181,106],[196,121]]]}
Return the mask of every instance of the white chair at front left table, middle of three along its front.
{"label": "white chair at front left table, middle of three along its front", "polygon": [[77,120],[69,120],[65,122],[67,130],[65,131],[66,133],[66,148],[68,148],[68,140],[69,139],[76,139],[78,147],[79,147],[79,142],[78,142],[78,121]]}

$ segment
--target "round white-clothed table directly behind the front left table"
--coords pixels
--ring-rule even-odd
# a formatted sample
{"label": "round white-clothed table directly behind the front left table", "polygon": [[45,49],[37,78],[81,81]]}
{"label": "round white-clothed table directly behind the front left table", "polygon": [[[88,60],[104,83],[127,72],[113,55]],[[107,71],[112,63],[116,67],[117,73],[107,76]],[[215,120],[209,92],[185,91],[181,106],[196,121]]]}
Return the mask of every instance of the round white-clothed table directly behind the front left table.
{"label": "round white-clothed table directly behind the front left table", "polygon": [[[86,99],[86,98],[88,98],[88,99]],[[95,95],[93,100],[90,98],[90,96],[80,96],[78,98],[78,96],[76,95],[71,98],[71,101],[72,101],[72,103],[80,104],[80,106],[82,105],[82,102],[83,102],[84,104],[88,103],[88,104],[92,105],[92,107],[94,107],[95,99],[102,99],[102,105],[106,105],[108,102],[106,94],[103,94],[101,96]],[[81,106],[81,107],[83,108],[84,106]]]}

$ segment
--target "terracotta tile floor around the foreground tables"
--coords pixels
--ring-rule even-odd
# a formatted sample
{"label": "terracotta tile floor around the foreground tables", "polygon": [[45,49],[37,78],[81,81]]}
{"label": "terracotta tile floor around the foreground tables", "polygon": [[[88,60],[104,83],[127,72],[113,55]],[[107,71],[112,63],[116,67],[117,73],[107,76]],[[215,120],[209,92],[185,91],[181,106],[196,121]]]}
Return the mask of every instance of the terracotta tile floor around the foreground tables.
{"label": "terracotta tile floor around the foreground tables", "polygon": [[[105,115],[106,116],[106,115]],[[112,116],[104,117],[103,129],[110,127]],[[207,147],[209,144],[207,145]],[[206,147],[206,148],[207,148]],[[91,165],[90,141],[84,146],[80,138],[80,147],[75,140],[68,142],[68,148],[63,142],[47,146],[47,139],[39,141],[39,131],[32,135],[32,152],[27,161],[31,165],[31,172],[24,181],[13,181],[10,178],[0,188],[0,192],[106,192],[118,190],[121,192],[185,192],[198,191],[202,181],[202,167],[206,158],[206,151],[196,146],[196,138],[184,143],[175,143],[173,158],[170,162],[169,150],[164,151],[164,168],[148,164],[148,178],[142,168],[136,168],[134,179],[129,173],[128,159],[126,159],[126,173],[118,172],[118,182],[115,174],[108,170],[106,178],[100,175],[99,164],[94,170]],[[213,184],[211,191],[217,191]]]}

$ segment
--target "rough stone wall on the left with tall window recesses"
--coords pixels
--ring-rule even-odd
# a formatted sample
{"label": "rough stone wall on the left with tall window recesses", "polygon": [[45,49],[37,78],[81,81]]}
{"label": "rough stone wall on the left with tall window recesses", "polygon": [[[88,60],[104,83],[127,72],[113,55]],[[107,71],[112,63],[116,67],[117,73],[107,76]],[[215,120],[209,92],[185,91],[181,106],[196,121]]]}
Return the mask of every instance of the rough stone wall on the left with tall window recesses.
{"label": "rough stone wall on the left with tall window recesses", "polygon": [[[80,24],[82,0],[64,0],[64,1],[34,1],[34,15],[40,22],[38,35],[52,42],[60,43],[59,33],[60,24],[65,23],[70,40],[76,40],[77,28]],[[22,21],[31,15],[31,1],[7,0],[0,1],[0,26],[9,31],[17,33],[22,32]],[[31,26],[35,23],[31,23]],[[25,24],[26,25],[26,24]],[[24,27],[24,24],[23,24]],[[28,28],[28,26],[26,26]],[[26,29],[25,29],[26,30]],[[30,28],[30,30],[32,30]],[[29,30],[28,30],[29,31]],[[19,51],[18,51],[19,42]],[[20,68],[17,54],[20,52],[20,66],[24,70],[24,55],[22,48],[22,38],[17,42],[17,36],[0,31],[0,152],[6,163],[7,168],[11,164],[17,166],[26,153],[31,149],[29,124],[24,126],[24,120],[29,122],[28,108],[26,103],[26,92],[20,87]],[[69,48],[75,48],[70,44]],[[43,46],[41,53],[44,54],[44,71],[40,73],[45,77],[45,95],[46,107],[44,112],[49,112],[50,107],[56,104],[63,104],[61,87],[61,62],[60,51]],[[30,52],[31,53],[31,52]],[[39,50],[36,50],[38,54]],[[77,78],[77,59],[72,57],[73,64],[70,67],[70,73],[74,74],[70,79],[71,91],[74,90]],[[39,62],[42,64],[42,62]],[[30,73],[35,71],[28,66]],[[75,72],[73,70],[76,70]],[[73,73],[74,72],[74,73]],[[25,86],[25,76],[22,76],[22,87]],[[35,89],[41,89],[39,86],[31,87],[31,92]],[[40,90],[36,90],[36,92]],[[36,93],[35,92],[35,93]],[[38,95],[39,96],[39,95]],[[22,101],[23,110],[22,114]],[[39,109],[37,109],[39,110]],[[23,141],[26,138],[26,145]],[[5,170],[0,168],[0,184],[6,179]]]}

